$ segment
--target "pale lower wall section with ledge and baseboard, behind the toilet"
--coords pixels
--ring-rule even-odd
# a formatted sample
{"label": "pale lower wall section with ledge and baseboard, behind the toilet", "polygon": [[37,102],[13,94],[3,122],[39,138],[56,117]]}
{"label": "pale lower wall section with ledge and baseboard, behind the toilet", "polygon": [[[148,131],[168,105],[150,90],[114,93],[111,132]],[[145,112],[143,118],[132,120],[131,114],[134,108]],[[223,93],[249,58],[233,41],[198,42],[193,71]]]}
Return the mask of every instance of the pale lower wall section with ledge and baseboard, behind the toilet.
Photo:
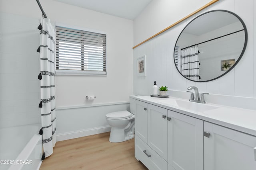
{"label": "pale lower wall section with ledge and baseboard, behind the toilet", "polygon": [[[73,109],[57,110],[56,123],[57,141],[94,135],[110,131],[111,127],[106,122],[105,115],[113,111],[130,110],[129,103],[108,104],[105,106],[80,107]],[[86,115],[86,117],[85,117]]]}

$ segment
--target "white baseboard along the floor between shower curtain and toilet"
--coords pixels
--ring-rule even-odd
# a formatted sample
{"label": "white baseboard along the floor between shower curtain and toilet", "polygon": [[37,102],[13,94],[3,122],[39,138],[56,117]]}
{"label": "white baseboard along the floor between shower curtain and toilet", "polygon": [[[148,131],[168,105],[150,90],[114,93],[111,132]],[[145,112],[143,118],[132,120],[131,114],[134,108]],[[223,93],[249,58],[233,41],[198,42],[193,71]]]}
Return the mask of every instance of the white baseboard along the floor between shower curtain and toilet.
{"label": "white baseboard along the floor between shower curtain and toilet", "polygon": [[80,131],[73,131],[73,132],[67,132],[67,133],[57,133],[56,134],[56,141],[65,141],[68,139],[74,139],[78,137],[85,137],[85,136],[90,136],[90,135],[96,135],[99,133],[105,133],[105,132],[110,132],[111,126],[102,126],[102,127],[95,127],[95,128],[90,128],[90,129],[83,129]]}

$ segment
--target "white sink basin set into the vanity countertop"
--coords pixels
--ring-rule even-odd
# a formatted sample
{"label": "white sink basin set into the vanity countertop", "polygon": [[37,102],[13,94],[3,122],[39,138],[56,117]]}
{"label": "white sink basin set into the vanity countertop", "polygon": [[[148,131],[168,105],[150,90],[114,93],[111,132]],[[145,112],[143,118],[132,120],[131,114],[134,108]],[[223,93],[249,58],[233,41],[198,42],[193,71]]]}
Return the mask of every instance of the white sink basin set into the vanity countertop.
{"label": "white sink basin set into the vanity countertop", "polygon": [[208,104],[200,104],[200,103],[189,102],[186,100],[179,100],[179,99],[159,100],[158,102],[172,105],[172,106],[182,107],[184,109],[189,109],[189,110],[197,111],[197,112],[204,112],[204,111],[219,108],[216,106],[210,106]]}

